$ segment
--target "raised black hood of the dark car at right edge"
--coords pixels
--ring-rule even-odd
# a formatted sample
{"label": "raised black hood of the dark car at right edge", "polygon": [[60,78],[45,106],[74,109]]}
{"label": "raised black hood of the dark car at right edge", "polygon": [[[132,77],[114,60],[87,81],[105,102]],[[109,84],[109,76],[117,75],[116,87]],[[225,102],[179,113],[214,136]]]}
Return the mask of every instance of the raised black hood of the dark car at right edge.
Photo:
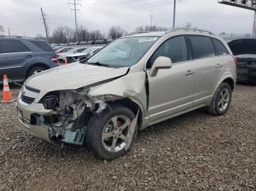
{"label": "raised black hood of the dark car at right edge", "polygon": [[233,55],[256,55],[256,39],[236,39],[228,46]]}

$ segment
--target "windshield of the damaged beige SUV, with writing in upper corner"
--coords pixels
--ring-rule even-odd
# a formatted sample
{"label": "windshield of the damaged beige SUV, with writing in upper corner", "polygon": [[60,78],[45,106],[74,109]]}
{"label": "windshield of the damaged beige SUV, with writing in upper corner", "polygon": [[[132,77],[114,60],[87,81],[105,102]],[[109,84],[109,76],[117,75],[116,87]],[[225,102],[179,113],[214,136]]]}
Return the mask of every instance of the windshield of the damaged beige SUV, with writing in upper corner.
{"label": "windshield of the damaged beige SUV, with writing in upper corner", "polygon": [[103,63],[108,66],[132,66],[138,63],[159,37],[127,37],[116,41],[93,55],[88,63]]}

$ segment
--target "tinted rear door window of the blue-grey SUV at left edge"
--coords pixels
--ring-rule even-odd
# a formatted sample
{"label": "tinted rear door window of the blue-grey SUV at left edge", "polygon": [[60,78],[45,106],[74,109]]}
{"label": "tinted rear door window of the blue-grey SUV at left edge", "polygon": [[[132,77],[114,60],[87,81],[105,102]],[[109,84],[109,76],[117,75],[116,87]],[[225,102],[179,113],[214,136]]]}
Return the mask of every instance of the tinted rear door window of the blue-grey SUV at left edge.
{"label": "tinted rear door window of the blue-grey SUV at left edge", "polygon": [[19,40],[1,40],[2,53],[29,52],[30,50]]}

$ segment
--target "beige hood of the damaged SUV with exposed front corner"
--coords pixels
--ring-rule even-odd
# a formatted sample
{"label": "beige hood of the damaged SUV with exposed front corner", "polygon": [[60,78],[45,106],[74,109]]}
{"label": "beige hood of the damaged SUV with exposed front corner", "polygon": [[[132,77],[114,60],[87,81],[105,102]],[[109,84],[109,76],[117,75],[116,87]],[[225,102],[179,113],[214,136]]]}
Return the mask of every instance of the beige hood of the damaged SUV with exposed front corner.
{"label": "beige hood of the damaged SUV with exposed front corner", "polygon": [[92,85],[106,79],[112,79],[127,74],[129,67],[107,68],[83,63],[70,63],[54,69],[42,71],[29,77],[25,84],[40,90],[40,94],[54,90],[75,90]]}

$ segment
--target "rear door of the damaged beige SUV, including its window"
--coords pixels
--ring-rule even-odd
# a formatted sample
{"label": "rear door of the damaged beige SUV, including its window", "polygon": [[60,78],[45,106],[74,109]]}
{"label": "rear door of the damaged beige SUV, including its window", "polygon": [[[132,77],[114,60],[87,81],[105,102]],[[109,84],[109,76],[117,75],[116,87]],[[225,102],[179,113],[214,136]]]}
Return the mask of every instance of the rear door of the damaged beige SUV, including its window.
{"label": "rear door of the damaged beige SUV, including its window", "polygon": [[[208,36],[189,35],[195,66],[194,106],[206,104],[214,93],[223,72],[223,59],[215,50],[213,40]],[[219,45],[218,42],[216,42]]]}

